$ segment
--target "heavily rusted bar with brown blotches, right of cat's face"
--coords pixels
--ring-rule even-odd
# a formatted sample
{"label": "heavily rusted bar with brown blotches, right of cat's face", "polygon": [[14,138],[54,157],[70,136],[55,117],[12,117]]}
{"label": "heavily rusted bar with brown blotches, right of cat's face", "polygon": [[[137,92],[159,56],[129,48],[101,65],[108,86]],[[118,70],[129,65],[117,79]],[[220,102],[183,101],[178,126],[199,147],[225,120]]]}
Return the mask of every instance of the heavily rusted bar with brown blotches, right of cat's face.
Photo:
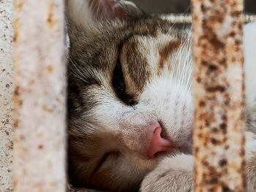
{"label": "heavily rusted bar with brown blotches, right of cat's face", "polygon": [[192,0],[195,191],[245,191],[242,10]]}

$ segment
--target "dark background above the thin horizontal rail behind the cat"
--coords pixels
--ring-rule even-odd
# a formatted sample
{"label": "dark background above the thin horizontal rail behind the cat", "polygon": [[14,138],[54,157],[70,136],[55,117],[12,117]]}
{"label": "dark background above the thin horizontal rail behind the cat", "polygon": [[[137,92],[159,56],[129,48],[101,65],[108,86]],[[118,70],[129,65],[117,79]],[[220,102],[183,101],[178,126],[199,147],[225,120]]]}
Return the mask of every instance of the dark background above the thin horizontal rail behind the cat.
{"label": "dark background above the thin horizontal rail behind the cat", "polygon": [[[190,12],[190,0],[130,0],[141,9],[155,13]],[[245,1],[245,12],[256,13],[256,0]]]}

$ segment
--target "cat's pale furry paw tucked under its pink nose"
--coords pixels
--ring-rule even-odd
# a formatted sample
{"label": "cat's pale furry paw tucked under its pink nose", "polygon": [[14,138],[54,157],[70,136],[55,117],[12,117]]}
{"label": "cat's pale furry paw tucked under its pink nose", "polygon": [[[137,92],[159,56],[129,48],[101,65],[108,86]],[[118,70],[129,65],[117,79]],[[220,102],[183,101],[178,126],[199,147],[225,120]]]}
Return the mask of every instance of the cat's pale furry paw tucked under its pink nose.
{"label": "cat's pale furry paw tucked under its pink nose", "polygon": [[141,192],[193,191],[192,155],[165,158],[143,180]]}

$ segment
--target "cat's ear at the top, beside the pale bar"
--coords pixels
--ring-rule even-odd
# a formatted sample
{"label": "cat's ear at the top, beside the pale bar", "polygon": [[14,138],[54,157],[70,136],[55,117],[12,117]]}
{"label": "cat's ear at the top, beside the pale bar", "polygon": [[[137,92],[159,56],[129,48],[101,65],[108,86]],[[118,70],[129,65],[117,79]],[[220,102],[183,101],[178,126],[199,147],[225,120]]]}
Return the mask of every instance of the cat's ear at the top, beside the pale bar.
{"label": "cat's ear at the top, beside the pale bar", "polygon": [[90,28],[99,20],[132,20],[142,14],[131,1],[66,0],[67,20],[76,26]]}

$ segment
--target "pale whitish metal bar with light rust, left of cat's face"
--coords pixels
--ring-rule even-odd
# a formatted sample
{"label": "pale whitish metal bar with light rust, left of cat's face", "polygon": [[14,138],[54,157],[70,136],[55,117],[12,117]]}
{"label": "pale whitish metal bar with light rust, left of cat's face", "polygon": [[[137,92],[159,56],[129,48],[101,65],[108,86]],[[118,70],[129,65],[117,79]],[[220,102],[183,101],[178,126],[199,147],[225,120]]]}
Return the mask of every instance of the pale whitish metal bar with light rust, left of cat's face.
{"label": "pale whitish metal bar with light rust, left of cat's face", "polygon": [[14,185],[64,192],[64,1],[15,0]]}

